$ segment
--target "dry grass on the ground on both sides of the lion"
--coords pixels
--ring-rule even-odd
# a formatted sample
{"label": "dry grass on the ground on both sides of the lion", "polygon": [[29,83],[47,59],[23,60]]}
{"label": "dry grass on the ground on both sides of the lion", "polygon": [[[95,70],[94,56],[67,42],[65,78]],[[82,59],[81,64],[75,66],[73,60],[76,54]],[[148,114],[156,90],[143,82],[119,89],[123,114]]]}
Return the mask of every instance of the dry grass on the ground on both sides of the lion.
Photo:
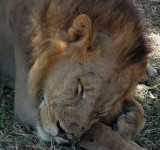
{"label": "dry grass on the ground on both sides of the lion", "polygon": [[[160,1],[136,0],[144,23],[149,28],[148,37],[151,39],[153,53],[151,64],[160,70]],[[36,131],[29,125],[19,125],[13,117],[14,91],[0,84],[0,149],[8,150],[75,150],[69,147],[52,146],[41,142]],[[137,88],[137,100],[143,104],[146,116],[145,128],[135,137],[135,141],[149,149],[160,149],[160,74],[147,85]]]}

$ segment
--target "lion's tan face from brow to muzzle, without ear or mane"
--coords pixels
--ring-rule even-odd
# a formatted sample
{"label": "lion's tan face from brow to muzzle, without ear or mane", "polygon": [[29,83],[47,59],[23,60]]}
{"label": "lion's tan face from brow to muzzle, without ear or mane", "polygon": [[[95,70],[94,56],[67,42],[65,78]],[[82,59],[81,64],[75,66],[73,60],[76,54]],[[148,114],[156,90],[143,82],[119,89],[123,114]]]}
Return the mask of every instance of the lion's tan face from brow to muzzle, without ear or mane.
{"label": "lion's tan face from brow to muzzle, without ear or mane", "polygon": [[58,143],[70,142],[107,114],[129,85],[107,62],[100,55],[89,62],[66,58],[50,69],[39,107],[40,136],[45,132]]}

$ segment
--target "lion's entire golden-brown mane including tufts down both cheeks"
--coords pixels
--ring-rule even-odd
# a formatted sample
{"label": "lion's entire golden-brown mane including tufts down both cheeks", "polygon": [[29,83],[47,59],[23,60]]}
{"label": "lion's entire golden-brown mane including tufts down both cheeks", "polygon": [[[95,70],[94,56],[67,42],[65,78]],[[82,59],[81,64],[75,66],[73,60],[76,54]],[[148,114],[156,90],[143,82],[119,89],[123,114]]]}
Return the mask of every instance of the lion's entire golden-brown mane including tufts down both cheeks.
{"label": "lion's entire golden-brown mane including tufts down both cheeks", "polygon": [[[123,3],[125,3],[125,7]],[[137,67],[145,68],[149,53],[138,12],[132,2],[128,0],[116,2],[109,0],[105,0],[105,2],[98,0],[86,0],[85,2],[83,0],[47,0],[42,2],[32,15],[32,28],[30,30],[31,45],[34,49],[31,54],[31,62],[34,65],[29,75],[31,93],[37,95],[37,92],[40,91],[40,85],[50,68],[49,66],[55,62],[53,60],[58,59],[57,54],[62,51],[58,42],[55,45],[52,43],[54,40],[70,42],[68,30],[73,20],[80,14],[86,14],[90,17],[94,31],[109,35],[108,47],[111,49],[111,55],[118,57],[119,68],[124,69],[132,66],[130,69],[135,76],[131,88],[122,98],[124,99],[133,90],[139,77],[142,76],[143,71],[137,72]],[[51,51],[52,54],[46,52],[49,51],[48,47],[54,49]],[[59,58],[61,59],[61,57]],[[42,62],[40,63],[40,61]],[[136,66],[136,63],[140,61],[141,67],[140,64]],[[37,64],[41,67],[34,69]],[[32,76],[32,74],[34,75]]]}

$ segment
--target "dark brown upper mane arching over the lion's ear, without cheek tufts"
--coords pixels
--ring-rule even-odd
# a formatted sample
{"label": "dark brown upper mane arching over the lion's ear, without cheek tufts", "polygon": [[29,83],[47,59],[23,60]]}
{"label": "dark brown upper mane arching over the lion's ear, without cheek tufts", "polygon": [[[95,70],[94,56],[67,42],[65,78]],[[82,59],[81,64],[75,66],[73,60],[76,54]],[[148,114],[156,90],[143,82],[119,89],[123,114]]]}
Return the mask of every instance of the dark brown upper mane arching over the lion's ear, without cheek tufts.
{"label": "dark brown upper mane arching over the lion's ear, without cheek tufts", "polygon": [[60,34],[63,36],[63,31],[67,32],[80,14],[91,18],[94,30],[111,35],[110,45],[113,51],[120,53],[127,65],[143,59],[148,53],[138,11],[128,0],[45,1],[32,16],[32,44],[36,49],[35,53],[39,53],[41,48],[38,46],[43,41]]}

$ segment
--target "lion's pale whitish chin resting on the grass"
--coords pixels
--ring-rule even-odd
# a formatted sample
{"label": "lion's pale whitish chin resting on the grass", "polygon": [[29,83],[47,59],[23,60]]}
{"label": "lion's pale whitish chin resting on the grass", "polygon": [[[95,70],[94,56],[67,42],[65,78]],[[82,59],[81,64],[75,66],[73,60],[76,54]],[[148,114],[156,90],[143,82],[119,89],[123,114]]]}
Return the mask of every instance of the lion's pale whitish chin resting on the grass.
{"label": "lion's pale whitish chin resting on the grass", "polygon": [[53,144],[68,144],[70,143],[68,140],[65,140],[58,136],[52,136],[51,134],[48,134],[44,131],[44,129],[41,127],[41,125],[38,124],[37,126],[37,133],[41,140],[46,142],[52,142]]}

